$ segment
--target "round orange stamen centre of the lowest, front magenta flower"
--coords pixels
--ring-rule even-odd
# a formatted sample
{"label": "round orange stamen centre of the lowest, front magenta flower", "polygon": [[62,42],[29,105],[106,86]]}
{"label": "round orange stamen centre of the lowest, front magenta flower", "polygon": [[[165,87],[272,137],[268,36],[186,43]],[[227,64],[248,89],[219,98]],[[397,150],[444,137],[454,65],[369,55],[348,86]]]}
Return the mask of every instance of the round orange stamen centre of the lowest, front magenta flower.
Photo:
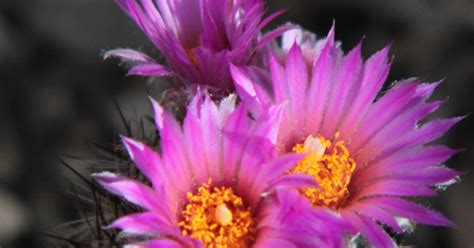
{"label": "round orange stamen centre of the lowest, front magenta flower", "polygon": [[203,242],[205,247],[248,247],[255,239],[256,226],[250,207],[232,188],[212,187],[211,181],[196,194],[187,193],[188,204],[178,223],[183,235]]}

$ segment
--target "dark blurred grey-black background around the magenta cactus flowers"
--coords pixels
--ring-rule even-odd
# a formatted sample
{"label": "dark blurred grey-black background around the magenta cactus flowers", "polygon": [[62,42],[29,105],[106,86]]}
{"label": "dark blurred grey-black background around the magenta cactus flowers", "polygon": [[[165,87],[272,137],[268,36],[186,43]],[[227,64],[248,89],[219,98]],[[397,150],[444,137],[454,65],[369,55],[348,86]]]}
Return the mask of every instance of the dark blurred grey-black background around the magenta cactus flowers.
{"label": "dark blurred grey-black background around the magenta cactus flowers", "polygon": [[[288,10],[273,27],[291,20],[323,36],[336,20],[345,51],[363,36],[365,57],[391,42],[390,81],[445,78],[434,99],[449,101],[437,116],[473,111],[474,1],[268,2],[270,10]],[[154,51],[112,0],[0,1],[0,247],[48,247],[41,232],[79,217],[66,193],[77,178],[58,157],[89,156],[91,142],[117,141],[123,126],[114,99],[129,118],[150,113],[147,80],[125,77],[118,61],[101,58],[118,47]],[[472,126],[469,116],[442,140],[465,149],[448,161],[460,171],[474,166]],[[404,244],[473,247],[473,189],[471,172],[424,200],[458,226],[419,226]]]}

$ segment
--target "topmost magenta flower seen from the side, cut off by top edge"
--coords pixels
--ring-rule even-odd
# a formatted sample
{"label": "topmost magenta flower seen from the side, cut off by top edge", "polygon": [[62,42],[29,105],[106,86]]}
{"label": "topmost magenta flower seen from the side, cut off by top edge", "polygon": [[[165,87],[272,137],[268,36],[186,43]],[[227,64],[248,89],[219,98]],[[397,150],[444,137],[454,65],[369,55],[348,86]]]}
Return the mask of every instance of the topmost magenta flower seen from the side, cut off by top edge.
{"label": "topmost magenta flower seen from the side, cut off by top edge", "polygon": [[186,84],[233,88],[229,63],[259,64],[257,51],[289,26],[260,37],[277,12],[263,19],[262,0],[116,0],[166,58],[164,65],[130,49],[111,50],[135,64],[129,74],[174,75]]}

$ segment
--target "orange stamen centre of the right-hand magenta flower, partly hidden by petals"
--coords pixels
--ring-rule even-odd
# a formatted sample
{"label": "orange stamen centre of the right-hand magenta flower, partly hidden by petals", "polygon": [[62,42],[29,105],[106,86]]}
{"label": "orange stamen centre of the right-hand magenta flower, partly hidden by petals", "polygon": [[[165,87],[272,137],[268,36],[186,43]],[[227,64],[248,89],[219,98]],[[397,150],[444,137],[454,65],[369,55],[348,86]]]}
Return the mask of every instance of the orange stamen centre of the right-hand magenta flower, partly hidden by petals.
{"label": "orange stamen centre of the right-hand magenta flower, partly hidden by petals", "polygon": [[344,141],[336,141],[339,133],[330,141],[322,136],[308,136],[303,144],[293,147],[293,152],[307,154],[290,173],[305,173],[314,177],[319,187],[301,191],[315,206],[337,209],[345,204],[348,186],[356,168]]}

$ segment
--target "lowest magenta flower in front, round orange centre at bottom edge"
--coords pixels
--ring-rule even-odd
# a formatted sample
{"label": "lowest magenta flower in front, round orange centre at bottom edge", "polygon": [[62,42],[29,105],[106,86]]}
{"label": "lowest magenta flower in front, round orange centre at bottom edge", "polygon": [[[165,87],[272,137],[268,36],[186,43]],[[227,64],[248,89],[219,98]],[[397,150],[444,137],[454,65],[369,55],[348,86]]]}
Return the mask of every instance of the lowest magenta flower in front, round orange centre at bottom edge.
{"label": "lowest magenta flower in front, round orange centre at bottom edge", "polygon": [[[311,176],[286,173],[301,155],[274,158],[281,108],[253,120],[244,105],[235,107],[235,96],[219,106],[207,95],[204,98],[198,94],[193,99],[182,127],[152,100],[161,154],[123,137],[131,159],[151,186],[110,172],[93,175],[105,189],[144,210],[109,227],[138,236],[132,247],[293,244],[298,236],[286,234],[293,230],[288,225],[293,224],[296,210],[290,206],[282,211],[278,202],[295,205],[297,199],[272,192],[316,184]],[[311,237],[303,233],[302,238],[330,246],[341,242],[343,229],[337,216],[327,211],[312,216],[321,217],[315,222],[319,225],[325,220],[334,226],[332,233],[326,237],[328,230],[321,230]]]}

